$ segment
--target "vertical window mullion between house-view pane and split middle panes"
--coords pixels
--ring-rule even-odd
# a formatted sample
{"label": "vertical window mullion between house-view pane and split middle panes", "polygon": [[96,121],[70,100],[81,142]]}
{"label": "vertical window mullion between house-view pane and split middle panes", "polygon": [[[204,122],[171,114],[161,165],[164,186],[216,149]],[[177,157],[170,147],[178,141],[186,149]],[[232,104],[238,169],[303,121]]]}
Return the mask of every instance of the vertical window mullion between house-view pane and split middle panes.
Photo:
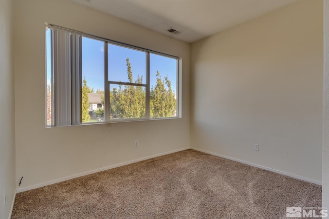
{"label": "vertical window mullion between house-view pane and split middle panes", "polygon": [[104,42],[104,122],[109,122],[108,45]]}

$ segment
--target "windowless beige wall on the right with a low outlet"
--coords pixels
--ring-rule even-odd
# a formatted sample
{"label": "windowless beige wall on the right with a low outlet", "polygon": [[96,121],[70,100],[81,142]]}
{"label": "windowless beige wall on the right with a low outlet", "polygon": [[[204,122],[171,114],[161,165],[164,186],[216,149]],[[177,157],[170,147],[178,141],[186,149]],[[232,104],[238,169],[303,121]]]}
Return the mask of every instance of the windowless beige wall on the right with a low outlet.
{"label": "windowless beige wall on the right with a low outlet", "polygon": [[298,1],[191,51],[191,147],[320,184],[323,2]]}

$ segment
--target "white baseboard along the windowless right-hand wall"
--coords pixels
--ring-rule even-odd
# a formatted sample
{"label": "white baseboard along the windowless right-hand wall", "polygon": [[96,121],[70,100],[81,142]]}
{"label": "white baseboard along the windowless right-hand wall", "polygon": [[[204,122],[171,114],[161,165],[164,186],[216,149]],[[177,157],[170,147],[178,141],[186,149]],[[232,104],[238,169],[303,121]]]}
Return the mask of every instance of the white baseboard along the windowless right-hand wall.
{"label": "white baseboard along the windowless right-hand wall", "polygon": [[249,162],[246,162],[246,161],[241,161],[241,160],[238,160],[238,159],[235,159],[235,158],[232,158],[232,157],[223,156],[221,154],[213,153],[213,152],[202,150],[202,149],[198,149],[198,148],[191,148],[191,149],[192,150],[196,150],[196,151],[200,151],[200,152],[204,152],[204,153],[207,153],[207,154],[211,154],[211,155],[223,157],[223,158],[226,158],[228,160],[236,161],[236,162],[243,163],[243,164],[247,164],[247,165],[250,165],[250,166],[253,166],[253,167],[258,167],[258,168],[261,168],[261,169],[264,169],[264,170],[268,170],[268,171],[271,171],[271,172],[275,172],[275,173],[279,173],[279,174],[282,174],[282,175],[286,175],[286,176],[290,176],[290,177],[293,177],[293,178],[297,178],[298,180],[303,180],[303,181],[306,181],[306,182],[309,182],[309,183],[314,183],[314,184],[317,184],[317,185],[322,185],[322,182],[311,180],[310,178],[305,178],[303,176],[299,176],[299,175],[295,175],[295,174],[292,174],[292,173],[283,172],[283,171],[280,171],[280,170],[272,169],[270,167],[264,167],[264,166],[261,166],[261,165],[258,165],[258,164],[253,164],[253,163],[249,163]]}

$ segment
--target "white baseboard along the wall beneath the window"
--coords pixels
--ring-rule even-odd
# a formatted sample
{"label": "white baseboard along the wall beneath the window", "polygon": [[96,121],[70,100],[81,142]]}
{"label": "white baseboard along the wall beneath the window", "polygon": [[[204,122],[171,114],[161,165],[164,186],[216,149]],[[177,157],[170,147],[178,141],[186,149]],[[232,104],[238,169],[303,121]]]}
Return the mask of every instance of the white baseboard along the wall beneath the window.
{"label": "white baseboard along the wall beneath the window", "polygon": [[185,151],[187,149],[190,149],[190,147],[181,148],[181,149],[177,149],[177,150],[173,150],[173,151],[169,151],[169,152],[164,152],[164,153],[159,153],[159,154],[155,154],[155,155],[151,155],[151,156],[146,156],[146,157],[138,158],[138,159],[133,160],[133,161],[127,161],[127,162],[123,162],[123,163],[120,163],[120,164],[115,164],[115,165],[111,165],[111,166],[107,166],[107,167],[103,167],[103,168],[99,168],[99,169],[95,169],[95,170],[91,170],[91,171],[87,171],[87,172],[83,172],[83,173],[79,173],[79,174],[75,174],[75,175],[71,175],[71,176],[66,176],[64,178],[59,178],[58,180],[52,180],[52,181],[48,181],[48,182],[45,182],[45,183],[40,183],[40,184],[36,184],[36,185],[32,185],[32,186],[17,188],[17,193],[25,192],[25,191],[28,191],[28,190],[31,190],[31,189],[36,189],[36,188],[40,188],[40,187],[44,187],[44,186],[48,186],[48,185],[63,182],[63,181],[66,181],[66,180],[71,180],[72,178],[77,178],[77,177],[80,177],[80,176],[84,176],[84,175],[88,175],[88,174],[92,174],[92,173],[96,173],[96,172],[101,172],[101,171],[113,169],[113,168],[116,168],[116,167],[121,167],[121,166],[128,165],[128,164],[133,164],[133,163],[136,163],[136,162],[145,161],[145,160],[148,160],[150,158],[157,157],[157,156],[171,154],[171,153],[175,153],[175,152],[179,152],[179,151]]}

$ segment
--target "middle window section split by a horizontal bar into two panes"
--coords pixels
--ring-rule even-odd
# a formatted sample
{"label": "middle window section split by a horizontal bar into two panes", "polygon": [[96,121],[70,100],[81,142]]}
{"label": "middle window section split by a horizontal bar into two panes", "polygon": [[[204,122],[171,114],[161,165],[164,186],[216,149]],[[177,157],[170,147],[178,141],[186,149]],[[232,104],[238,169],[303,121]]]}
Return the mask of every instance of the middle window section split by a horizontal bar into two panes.
{"label": "middle window section split by a horizontal bar into two panes", "polygon": [[147,52],[108,44],[109,119],[145,119]]}

